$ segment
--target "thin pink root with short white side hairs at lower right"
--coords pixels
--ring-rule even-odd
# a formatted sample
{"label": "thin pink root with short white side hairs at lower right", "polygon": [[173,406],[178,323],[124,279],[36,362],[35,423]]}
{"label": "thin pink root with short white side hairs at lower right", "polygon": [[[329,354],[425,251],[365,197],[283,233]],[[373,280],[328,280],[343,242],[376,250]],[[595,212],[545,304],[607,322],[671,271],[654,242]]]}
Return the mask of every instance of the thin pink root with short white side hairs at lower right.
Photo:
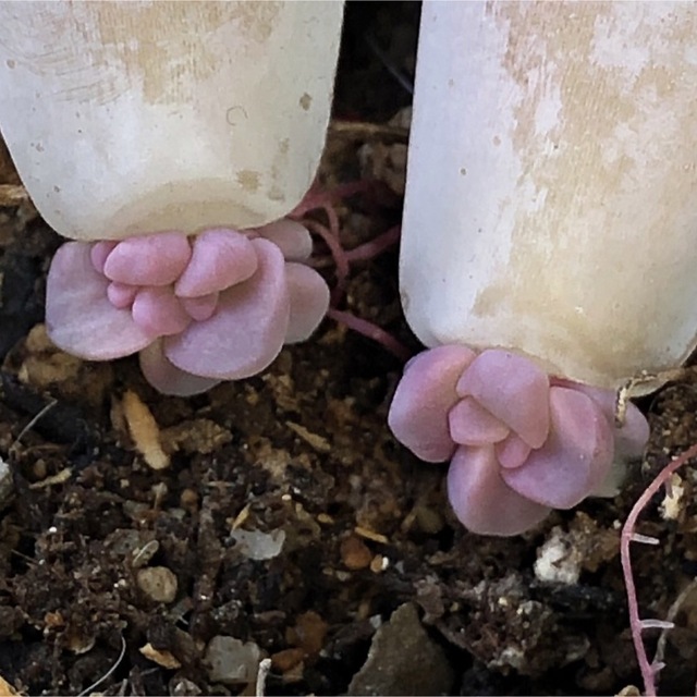
{"label": "thin pink root with short white side hairs at lower right", "polygon": [[636,585],[632,575],[632,555],[629,553],[629,543],[632,541],[643,541],[641,536],[635,536],[636,523],[644,509],[651,501],[658,490],[668,484],[672,474],[680,469],[692,457],[697,456],[697,443],[688,448],[680,456],[672,460],[656,479],[644,490],[627,515],[627,519],[622,526],[622,536],[620,538],[620,560],[622,561],[622,572],[624,575],[624,585],[627,594],[627,606],[629,610],[629,626],[632,627],[632,640],[634,641],[634,650],[641,671],[641,680],[644,681],[644,694],[646,697],[656,697],[656,675],[658,667],[649,662],[646,653],[646,647],[641,638],[644,625],[639,616],[639,602],[636,597]]}

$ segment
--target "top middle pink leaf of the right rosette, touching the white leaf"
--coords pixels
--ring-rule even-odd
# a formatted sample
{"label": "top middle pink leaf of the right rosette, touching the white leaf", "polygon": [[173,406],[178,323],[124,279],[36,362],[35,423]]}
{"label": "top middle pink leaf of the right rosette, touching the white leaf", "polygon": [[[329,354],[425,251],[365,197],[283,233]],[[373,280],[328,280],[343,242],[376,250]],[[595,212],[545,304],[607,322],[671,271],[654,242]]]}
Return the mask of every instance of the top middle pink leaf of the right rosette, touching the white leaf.
{"label": "top middle pink leaf of the right rosette, touching the white leaf", "polygon": [[501,348],[482,351],[456,389],[460,396],[474,396],[530,448],[547,440],[549,379],[529,358]]}

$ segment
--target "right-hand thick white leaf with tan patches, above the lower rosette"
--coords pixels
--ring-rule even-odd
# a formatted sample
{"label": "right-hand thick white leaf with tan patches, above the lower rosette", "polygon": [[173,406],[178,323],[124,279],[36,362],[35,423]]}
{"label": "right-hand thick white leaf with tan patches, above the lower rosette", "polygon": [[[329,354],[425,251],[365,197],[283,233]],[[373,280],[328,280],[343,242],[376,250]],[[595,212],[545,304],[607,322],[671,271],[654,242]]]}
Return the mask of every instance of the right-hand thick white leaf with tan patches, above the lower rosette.
{"label": "right-hand thick white leaf with tan patches, above the lower rosette", "polygon": [[606,388],[690,354],[696,57],[695,3],[424,2],[401,289],[427,346]]}

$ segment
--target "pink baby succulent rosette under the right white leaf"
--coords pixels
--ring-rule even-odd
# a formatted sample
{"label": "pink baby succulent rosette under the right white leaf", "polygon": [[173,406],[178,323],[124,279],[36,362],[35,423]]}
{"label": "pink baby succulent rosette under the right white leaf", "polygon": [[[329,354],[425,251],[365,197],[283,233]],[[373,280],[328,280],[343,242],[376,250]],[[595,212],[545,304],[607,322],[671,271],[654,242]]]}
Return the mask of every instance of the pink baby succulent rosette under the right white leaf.
{"label": "pink baby succulent rosette under the right white leaf", "polygon": [[645,417],[631,404],[616,428],[614,403],[509,351],[444,345],[407,364],[389,423],[421,460],[450,460],[448,497],[469,530],[517,535],[603,493],[613,463],[641,455]]}

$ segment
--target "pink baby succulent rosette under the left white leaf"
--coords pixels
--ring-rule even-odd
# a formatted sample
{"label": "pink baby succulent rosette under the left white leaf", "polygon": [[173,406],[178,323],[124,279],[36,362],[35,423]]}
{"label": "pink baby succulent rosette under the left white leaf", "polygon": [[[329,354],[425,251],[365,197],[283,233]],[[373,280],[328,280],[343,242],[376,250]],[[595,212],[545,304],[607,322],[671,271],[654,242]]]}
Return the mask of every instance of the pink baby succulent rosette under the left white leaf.
{"label": "pink baby succulent rosette under the left white leaf", "polygon": [[247,378],[327,313],[327,283],[305,264],[311,248],[292,220],[69,242],[48,274],[48,334],[88,360],[139,352],[145,377],[166,394]]}

